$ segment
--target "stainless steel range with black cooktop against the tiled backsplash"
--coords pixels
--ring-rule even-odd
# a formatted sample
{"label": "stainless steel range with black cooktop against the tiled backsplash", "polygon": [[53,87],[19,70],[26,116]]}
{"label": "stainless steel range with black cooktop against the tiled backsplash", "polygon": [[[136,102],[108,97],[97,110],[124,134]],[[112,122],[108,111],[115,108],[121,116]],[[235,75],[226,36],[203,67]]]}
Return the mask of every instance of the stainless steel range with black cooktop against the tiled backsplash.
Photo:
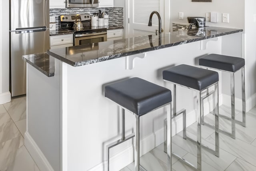
{"label": "stainless steel range with black cooktop against the tiled backsplash", "polygon": [[[76,23],[82,26],[78,28]],[[107,29],[91,26],[90,14],[73,14],[60,16],[60,28],[74,32],[74,46],[107,41]]]}

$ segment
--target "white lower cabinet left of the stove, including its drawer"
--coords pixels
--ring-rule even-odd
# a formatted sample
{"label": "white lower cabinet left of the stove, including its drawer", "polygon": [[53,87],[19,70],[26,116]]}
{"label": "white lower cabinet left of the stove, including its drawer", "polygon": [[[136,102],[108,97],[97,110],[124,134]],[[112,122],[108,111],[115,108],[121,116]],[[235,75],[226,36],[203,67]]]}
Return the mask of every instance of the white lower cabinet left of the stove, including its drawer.
{"label": "white lower cabinet left of the stove, including its drawer", "polygon": [[73,34],[50,36],[51,49],[73,46]]}

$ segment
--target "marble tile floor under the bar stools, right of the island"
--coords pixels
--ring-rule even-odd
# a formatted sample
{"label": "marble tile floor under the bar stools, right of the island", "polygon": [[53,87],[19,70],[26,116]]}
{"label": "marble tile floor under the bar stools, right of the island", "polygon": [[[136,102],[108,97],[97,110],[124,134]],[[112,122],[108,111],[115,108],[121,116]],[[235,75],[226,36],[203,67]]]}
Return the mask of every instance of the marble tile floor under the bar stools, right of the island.
{"label": "marble tile floor under the bar stools, right of the island", "polygon": [[[222,105],[220,113],[228,115],[230,108]],[[220,133],[220,157],[202,149],[202,171],[256,171],[256,107],[246,113],[246,127],[236,124],[236,139]],[[208,114],[205,121],[214,123],[214,115]],[[242,119],[242,113],[236,111],[236,119]],[[231,130],[231,123],[220,118],[220,128]],[[196,123],[187,128],[187,135],[196,139]],[[214,130],[202,125],[202,143],[214,149]],[[172,149],[184,159],[196,165],[196,145],[182,138],[182,132],[172,137]],[[163,144],[140,157],[141,164],[148,171],[166,171],[166,154]],[[133,171],[134,163],[121,171]],[[172,157],[173,171],[194,171],[180,160]]]}

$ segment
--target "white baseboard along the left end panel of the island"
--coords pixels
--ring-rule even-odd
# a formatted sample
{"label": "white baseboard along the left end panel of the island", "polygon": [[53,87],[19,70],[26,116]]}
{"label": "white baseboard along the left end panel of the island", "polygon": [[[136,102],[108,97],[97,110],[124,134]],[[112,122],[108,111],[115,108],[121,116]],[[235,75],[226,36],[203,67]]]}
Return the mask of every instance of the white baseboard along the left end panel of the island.
{"label": "white baseboard along the left end panel of the island", "polygon": [[25,132],[24,145],[28,149],[28,152],[34,159],[40,171],[54,171],[54,169],[52,168],[40,148],[37,146],[34,139],[30,136],[28,131]]}

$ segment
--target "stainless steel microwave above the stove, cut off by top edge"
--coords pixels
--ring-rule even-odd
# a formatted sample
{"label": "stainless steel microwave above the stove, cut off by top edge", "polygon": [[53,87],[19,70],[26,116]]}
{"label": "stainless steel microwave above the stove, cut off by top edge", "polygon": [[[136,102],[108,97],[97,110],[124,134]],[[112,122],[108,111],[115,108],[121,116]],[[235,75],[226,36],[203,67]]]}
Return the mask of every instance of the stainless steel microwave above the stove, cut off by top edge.
{"label": "stainless steel microwave above the stove, cut off by top edge", "polygon": [[67,8],[98,7],[99,0],[66,0]]}

